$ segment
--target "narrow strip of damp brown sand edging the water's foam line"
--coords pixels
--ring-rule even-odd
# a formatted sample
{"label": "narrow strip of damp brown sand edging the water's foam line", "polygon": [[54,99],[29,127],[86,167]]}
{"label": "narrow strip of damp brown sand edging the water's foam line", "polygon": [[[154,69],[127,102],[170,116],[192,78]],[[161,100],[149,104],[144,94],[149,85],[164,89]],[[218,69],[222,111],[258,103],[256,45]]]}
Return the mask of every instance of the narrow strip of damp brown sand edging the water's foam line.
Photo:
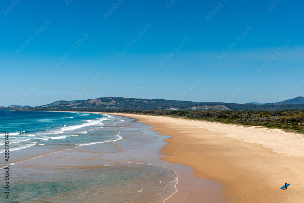
{"label": "narrow strip of damp brown sand edging the water's foam line", "polygon": [[[52,111],[53,112],[53,111]],[[56,111],[56,112],[66,112],[66,111]],[[77,111],[71,111],[77,112]],[[142,121],[142,118],[137,118],[136,115],[129,116],[130,114],[115,114],[115,113],[104,113],[104,112],[78,112],[78,113],[95,113],[95,114],[108,114],[108,115],[119,115],[131,119],[137,119],[136,122],[145,123],[152,128],[148,130],[155,131],[158,135],[165,135],[173,137],[170,133],[162,133],[159,131],[157,126],[150,125],[149,121]],[[149,117],[149,116],[148,116]],[[157,116],[156,116],[157,117]],[[154,128],[155,127],[155,128]],[[170,139],[170,138],[168,138]],[[168,139],[163,139],[163,142],[168,143]],[[185,141],[186,142],[186,141]],[[170,160],[166,160],[162,157],[164,154],[163,149],[167,144],[163,146],[162,149],[158,150],[158,159],[162,162],[155,163],[161,167],[169,168],[173,170],[178,175],[178,183],[175,186],[177,191],[171,195],[170,198],[166,199],[166,203],[177,203],[177,202],[226,202],[228,196],[225,195],[226,188],[225,185],[217,180],[206,178],[204,174],[199,176],[195,175],[195,169],[189,164],[185,163],[171,163]],[[146,154],[147,155],[147,154]],[[147,155],[149,156],[149,155]],[[168,166],[168,165],[169,166]],[[199,186],[199,187],[197,187]],[[203,197],[202,197],[203,194]]]}

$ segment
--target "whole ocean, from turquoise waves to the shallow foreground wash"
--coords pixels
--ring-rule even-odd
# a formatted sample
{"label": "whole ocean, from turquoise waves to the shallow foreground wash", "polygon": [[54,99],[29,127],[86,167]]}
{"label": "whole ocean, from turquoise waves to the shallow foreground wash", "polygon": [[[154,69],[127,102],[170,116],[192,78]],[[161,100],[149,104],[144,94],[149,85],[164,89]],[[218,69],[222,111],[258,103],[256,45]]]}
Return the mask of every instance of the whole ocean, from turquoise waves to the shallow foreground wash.
{"label": "whole ocean, from turquoise waves to the shallow foreground wash", "polygon": [[1,179],[10,163],[9,198],[1,181],[0,202],[164,202],[177,191],[177,174],[158,159],[164,136],[136,119],[0,111],[0,121]]}

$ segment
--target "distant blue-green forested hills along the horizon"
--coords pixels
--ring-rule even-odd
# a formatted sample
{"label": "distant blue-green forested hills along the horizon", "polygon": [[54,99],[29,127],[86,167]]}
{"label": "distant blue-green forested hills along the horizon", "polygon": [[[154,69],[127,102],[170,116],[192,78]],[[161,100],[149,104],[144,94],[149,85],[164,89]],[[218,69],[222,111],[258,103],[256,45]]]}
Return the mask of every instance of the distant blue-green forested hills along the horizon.
{"label": "distant blue-green forested hills along the horizon", "polygon": [[[297,97],[283,102],[261,104],[250,102],[248,104],[223,103],[223,102],[193,102],[166,99],[136,99],[122,97],[101,97],[97,99],[55,101],[53,103],[23,107],[12,105],[6,109],[34,109],[34,110],[62,110],[62,111],[111,111],[111,110],[165,110],[178,109],[184,111],[209,111],[209,110],[253,110],[253,111],[278,111],[286,109],[304,109],[304,97]],[[5,108],[2,108],[5,109]]]}

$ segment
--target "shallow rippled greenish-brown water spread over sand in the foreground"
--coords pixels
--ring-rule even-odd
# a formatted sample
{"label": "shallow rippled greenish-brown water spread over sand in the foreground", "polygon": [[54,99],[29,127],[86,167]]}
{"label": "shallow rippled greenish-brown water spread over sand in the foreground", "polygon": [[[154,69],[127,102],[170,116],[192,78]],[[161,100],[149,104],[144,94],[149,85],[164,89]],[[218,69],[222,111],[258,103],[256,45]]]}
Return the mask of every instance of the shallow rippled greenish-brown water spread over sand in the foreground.
{"label": "shallow rippled greenish-brown water spread over sand in the foreground", "polygon": [[173,170],[138,163],[101,167],[11,166],[14,202],[163,202],[175,192]]}

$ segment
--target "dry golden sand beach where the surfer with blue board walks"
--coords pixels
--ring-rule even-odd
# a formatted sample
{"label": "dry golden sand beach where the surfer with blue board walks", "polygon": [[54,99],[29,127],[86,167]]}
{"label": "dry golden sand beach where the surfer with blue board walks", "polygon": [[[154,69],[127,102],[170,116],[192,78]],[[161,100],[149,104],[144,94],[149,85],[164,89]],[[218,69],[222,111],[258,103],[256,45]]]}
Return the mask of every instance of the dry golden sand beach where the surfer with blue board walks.
{"label": "dry golden sand beach where the surfer with blue board walks", "polygon": [[[190,166],[195,177],[223,183],[226,186],[223,195],[229,203],[304,199],[301,134],[163,116],[111,114],[139,119],[157,132],[172,136],[165,139],[168,144],[160,150],[161,159],[168,164]],[[281,190],[285,182],[290,186]],[[205,187],[203,182],[198,185]],[[183,202],[186,196],[189,197],[186,201],[194,202],[190,196],[198,198],[199,187],[180,185],[166,202]]]}

